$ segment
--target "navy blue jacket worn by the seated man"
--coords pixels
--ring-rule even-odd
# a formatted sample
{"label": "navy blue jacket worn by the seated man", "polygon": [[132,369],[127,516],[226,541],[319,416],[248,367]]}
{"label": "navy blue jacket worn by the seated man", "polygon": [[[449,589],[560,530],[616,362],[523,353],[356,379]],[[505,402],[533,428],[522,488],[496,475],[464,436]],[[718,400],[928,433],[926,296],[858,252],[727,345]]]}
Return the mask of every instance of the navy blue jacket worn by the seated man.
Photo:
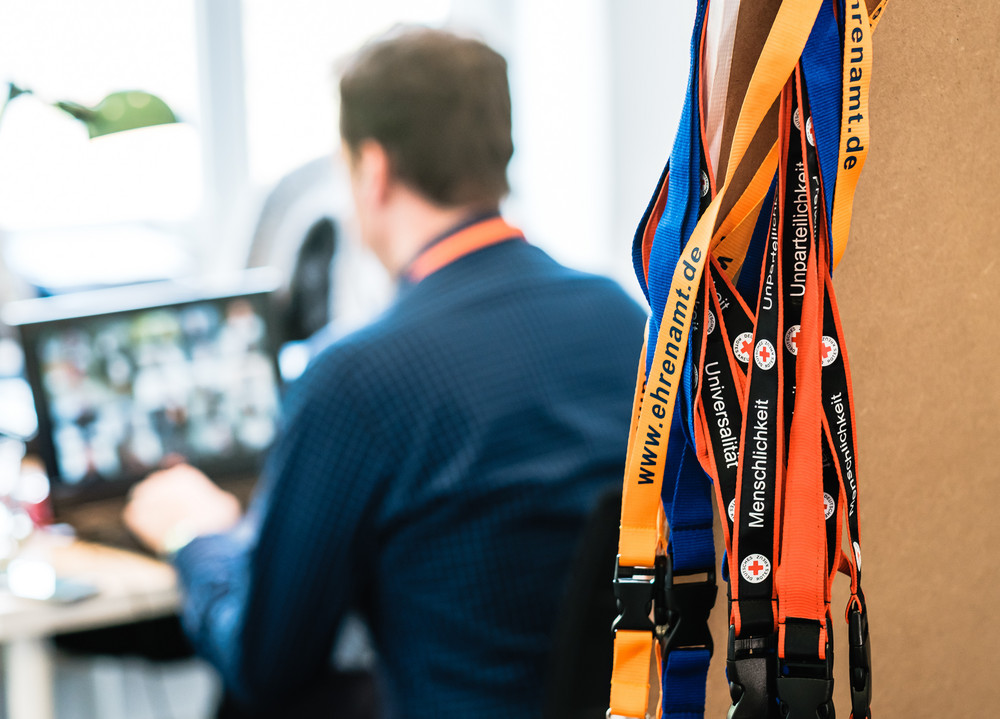
{"label": "navy blue jacket worn by the seated man", "polygon": [[577,535],[621,482],[644,319],[517,240],[404,286],[289,390],[244,526],[177,555],[197,651],[281,700],[355,609],[393,715],[538,716]]}

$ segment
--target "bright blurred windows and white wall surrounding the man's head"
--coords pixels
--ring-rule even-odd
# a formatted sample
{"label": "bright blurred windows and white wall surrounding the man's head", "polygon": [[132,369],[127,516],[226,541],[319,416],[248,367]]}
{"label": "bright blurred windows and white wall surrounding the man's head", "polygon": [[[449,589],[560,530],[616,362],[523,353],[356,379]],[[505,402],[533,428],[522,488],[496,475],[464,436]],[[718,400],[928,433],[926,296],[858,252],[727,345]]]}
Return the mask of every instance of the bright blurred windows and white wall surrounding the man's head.
{"label": "bright blurred windows and white wall surrounding the man's head", "polygon": [[[676,125],[691,11],[641,0],[572,12],[527,0],[4,3],[0,78],[84,105],[142,89],[181,121],[87,142],[51,106],[12,102],[0,132],[4,264],[47,291],[244,266],[269,194],[334,152],[336,60],[413,22],[471,30],[507,56],[508,213],[560,260],[631,286],[626,249]],[[327,202],[346,212],[336,189]]]}

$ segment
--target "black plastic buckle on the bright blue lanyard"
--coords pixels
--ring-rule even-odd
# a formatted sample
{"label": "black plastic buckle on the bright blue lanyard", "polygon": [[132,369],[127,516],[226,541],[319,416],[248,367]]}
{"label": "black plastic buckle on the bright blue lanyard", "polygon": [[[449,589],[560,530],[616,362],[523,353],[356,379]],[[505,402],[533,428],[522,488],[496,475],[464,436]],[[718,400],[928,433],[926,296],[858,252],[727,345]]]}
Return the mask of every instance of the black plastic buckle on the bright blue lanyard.
{"label": "black plastic buckle on the bright blue lanyard", "polygon": [[[664,654],[675,649],[708,649],[709,656],[714,651],[712,633],[708,628],[708,617],[715,606],[719,588],[715,583],[715,569],[701,572],[674,572],[673,560],[664,557],[663,564],[663,609],[656,617],[657,636],[662,643]],[[678,576],[706,574],[704,581],[674,583]]]}

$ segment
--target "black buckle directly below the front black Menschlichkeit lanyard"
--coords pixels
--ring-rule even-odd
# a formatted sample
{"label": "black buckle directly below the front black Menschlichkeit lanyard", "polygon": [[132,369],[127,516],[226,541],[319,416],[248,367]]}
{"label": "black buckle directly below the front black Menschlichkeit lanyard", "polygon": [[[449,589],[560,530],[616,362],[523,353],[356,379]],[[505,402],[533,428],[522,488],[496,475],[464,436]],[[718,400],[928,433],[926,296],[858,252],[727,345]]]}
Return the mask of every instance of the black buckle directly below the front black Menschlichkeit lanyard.
{"label": "black buckle directly below the front black Menschlichkeit lanyard", "polygon": [[736,628],[729,627],[729,651],[726,675],[732,706],[726,719],[770,719],[778,717],[773,697],[775,635],[736,638]]}

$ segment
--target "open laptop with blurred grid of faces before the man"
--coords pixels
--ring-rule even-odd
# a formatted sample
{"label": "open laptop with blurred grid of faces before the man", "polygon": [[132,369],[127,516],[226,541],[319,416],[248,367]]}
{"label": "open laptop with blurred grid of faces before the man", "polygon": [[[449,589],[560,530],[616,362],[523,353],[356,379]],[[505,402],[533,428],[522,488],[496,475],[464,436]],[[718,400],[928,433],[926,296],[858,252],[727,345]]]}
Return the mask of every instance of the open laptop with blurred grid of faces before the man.
{"label": "open laptop with blurred grid of faces before the man", "polygon": [[57,522],[136,548],[129,489],[182,461],[245,501],[277,429],[278,286],[264,268],[8,305]]}

